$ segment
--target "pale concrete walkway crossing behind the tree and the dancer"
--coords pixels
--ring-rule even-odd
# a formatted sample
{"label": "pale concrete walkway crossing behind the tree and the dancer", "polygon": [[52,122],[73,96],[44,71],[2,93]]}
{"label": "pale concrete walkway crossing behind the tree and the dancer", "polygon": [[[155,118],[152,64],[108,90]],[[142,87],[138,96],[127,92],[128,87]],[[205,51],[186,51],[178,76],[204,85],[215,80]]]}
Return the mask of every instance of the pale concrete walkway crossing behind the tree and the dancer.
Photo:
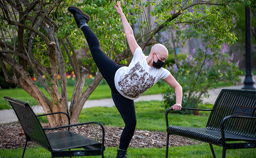
{"label": "pale concrete walkway crossing behind the tree and the dancer", "polygon": [[[209,91],[209,98],[204,98],[203,102],[206,103],[212,103],[214,104],[215,100],[217,99],[220,91],[224,88],[228,88],[228,89],[241,89],[244,85],[242,84],[245,77],[241,76],[241,83],[237,86],[227,86],[227,87],[222,87],[222,88],[217,88],[217,89],[212,89]],[[254,75],[254,79],[256,80],[256,75]],[[134,100],[134,102],[138,102],[138,101],[150,101],[150,100],[159,100],[161,101],[163,98],[161,96],[161,94],[157,94],[157,95],[143,95],[140,96],[138,99]],[[112,100],[112,98],[108,98],[108,99],[99,99],[99,100],[87,100],[85,102],[85,105],[83,106],[83,108],[89,108],[89,107],[96,107],[96,106],[100,106],[100,107],[113,107],[114,106],[114,102]],[[43,108],[41,106],[33,106],[32,107],[34,113],[39,114],[39,113],[44,113]],[[0,110],[0,124],[4,124],[4,123],[11,123],[11,122],[17,122],[18,119],[14,113],[14,111],[12,109],[9,110]]]}

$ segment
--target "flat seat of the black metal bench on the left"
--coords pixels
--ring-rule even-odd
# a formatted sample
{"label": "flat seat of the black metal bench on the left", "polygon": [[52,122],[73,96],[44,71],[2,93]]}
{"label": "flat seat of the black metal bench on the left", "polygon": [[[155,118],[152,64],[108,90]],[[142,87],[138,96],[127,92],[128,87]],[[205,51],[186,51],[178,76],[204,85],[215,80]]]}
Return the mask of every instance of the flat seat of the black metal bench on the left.
{"label": "flat seat of the black metal bench on the left", "polygon": [[101,143],[79,135],[72,131],[60,131],[46,134],[53,151],[61,151],[70,148],[86,148],[92,146],[101,148]]}

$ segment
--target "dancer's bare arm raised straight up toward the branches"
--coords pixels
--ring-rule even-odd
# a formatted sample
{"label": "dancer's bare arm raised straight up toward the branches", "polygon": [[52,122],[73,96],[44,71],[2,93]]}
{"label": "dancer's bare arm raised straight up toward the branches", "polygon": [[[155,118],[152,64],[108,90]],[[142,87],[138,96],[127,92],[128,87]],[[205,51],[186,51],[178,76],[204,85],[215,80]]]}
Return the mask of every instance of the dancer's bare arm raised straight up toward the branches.
{"label": "dancer's bare arm raised straight up toward the branches", "polygon": [[134,52],[139,47],[139,45],[137,44],[137,42],[134,38],[132,27],[130,27],[130,24],[128,23],[126,17],[124,16],[120,1],[117,1],[117,6],[115,5],[114,7],[116,8],[117,13],[121,16],[124,33],[126,34],[126,38],[127,38],[130,50],[132,51],[132,54],[134,55]]}

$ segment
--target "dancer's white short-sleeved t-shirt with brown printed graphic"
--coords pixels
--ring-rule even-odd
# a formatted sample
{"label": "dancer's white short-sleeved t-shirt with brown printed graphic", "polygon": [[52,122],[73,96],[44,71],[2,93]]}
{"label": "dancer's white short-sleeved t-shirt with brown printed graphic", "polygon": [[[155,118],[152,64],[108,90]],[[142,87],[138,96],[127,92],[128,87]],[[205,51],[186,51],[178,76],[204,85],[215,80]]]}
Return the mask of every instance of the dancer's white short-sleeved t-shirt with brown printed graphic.
{"label": "dancer's white short-sleeved t-shirt with brown printed graphic", "polygon": [[117,70],[114,82],[122,96],[135,100],[160,79],[165,79],[171,74],[167,69],[150,67],[146,61],[147,57],[138,47],[129,66]]}

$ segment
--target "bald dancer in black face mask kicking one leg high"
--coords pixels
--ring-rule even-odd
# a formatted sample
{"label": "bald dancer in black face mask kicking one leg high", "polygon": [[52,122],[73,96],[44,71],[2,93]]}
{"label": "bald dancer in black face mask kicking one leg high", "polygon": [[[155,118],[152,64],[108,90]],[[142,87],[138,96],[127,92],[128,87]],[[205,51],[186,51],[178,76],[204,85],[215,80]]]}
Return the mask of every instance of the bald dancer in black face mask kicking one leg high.
{"label": "bald dancer in black face mask kicking one leg high", "polygon": [[137,123],[134,100],[153,86],[159,79],[163,79],[175,89],[176,104],[172,108],[180,110],[182,88],[171,73],[162,68],[164,61],[168,57],[166,47],[162,44],[155,44],[151,48],[149,56],[145,56],[137,44],[133,30],[122,12],[120,1],[117,1],[117,6],[114,7],[121,16],[128,45],[133,54],[133,59],[128,67],[118,65],[101,51],[96,35],[87,25],[90,19],[89,15],[75,6],[68,7],[68,10],[73,14],[78,28],[84,33],[92,57],[103,78],[110,86],[114,104],[125,123],[116,158],[126,158],[127,148]]}

